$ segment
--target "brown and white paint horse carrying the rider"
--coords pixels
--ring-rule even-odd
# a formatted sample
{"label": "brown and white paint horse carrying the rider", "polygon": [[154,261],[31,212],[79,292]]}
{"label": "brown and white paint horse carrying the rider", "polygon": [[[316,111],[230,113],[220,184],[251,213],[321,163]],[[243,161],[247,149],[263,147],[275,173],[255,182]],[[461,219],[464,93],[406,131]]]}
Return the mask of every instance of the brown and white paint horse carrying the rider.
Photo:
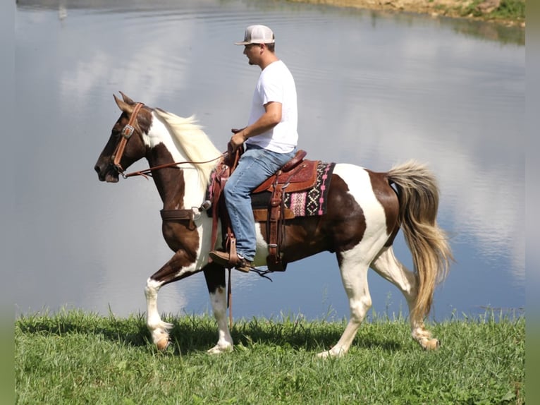
{"label": "brown and white paint horse carrying the rider", "polygon": [[[123,170],[145,157],[163,200],[164,210],[188,213],[186,218],[164,220],[162,231],[173,250],[171,260],[147,279],[147,327],[159,349],[168,345],[172,325],[161,320],[157,295],[165,284],[204,272],[219,330],[209,353],[233,349],[226,309],[226,272],[209,263],[212,219],[202,209],[211,173],[222,154],[192,117],[180,118],[161,109],[135,103],[125,96],[116,104],[122,113],[114,124],[94,169],[100,181],[115,183]],[[398,287],[409,307],[413,339],[424,349],[439,341],[424,326],[434,289],[448,272],[452,253],[446,234],[436,224],[438,188],[434,175],[422,164],[407,162],[378,173],[352,164],[336,164],[331,175],[326,212],[285,222],[281,248],[284,262],[294,262],[322,251],[336,253],[348,296],[350,319],[339,341],[321,357],[345,354],[372,306],[367,284],[371,267]],[[268,255],[266,227],[257,229],[255,266]],[[392,244],[399,229],[412,254],[414,271],[395,258]],[[221,239],[218,238],[221,243]],[[309,277],[309,276],[307,276]]]}

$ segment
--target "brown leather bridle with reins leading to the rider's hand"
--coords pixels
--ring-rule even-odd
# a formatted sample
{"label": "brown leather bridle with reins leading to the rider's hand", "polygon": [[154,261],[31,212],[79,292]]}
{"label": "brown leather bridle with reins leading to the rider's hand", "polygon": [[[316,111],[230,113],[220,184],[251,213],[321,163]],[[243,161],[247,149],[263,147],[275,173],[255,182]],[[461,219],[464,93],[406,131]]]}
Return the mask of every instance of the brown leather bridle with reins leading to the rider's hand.
{"label": "brown leather bridle with reins leading to the rider's hand", "polygon": [[137,102],[137,104],[135,104],[135,107],[133,108],[133,112],[131,113],[128,123],[122,128],[122,131],[120,131],[121,138],[118,141],[118,145],[116,145],[116,149],[114,150],[113,155],[111,155],[111,161],[112,161],[111,163],[113,165],[113,168],[116,171],[118,171],[118,174],[121,174],[124,179],[128,179],[128,177],[133,177],[133,176],[143,176],[146,179],[148,179],[148,176],[152,176],[152,171],[154,170],[164,169],[166,167],[176,167],[178,166],[178,164],[210,163],[228,155],[228,151],[227,151],[227,152],[223,152],[218,157],[214,157],[214,159],[210,159],[205,162],[192,162],[190,160],[186,160],[185,162],[173,162],[173,163],[160,164],[159,166],[149,167],[148,169],[133,171],[131,173],[124,174],[124,169],[121,166],[120,161],[123,157],[125,145],[128,143],[128,140],[131,138],[131,135],[133,135],[133,133],[135,132],[135,121],[137,121],[137,114],[139,114],[141,107],[143,107],[144,105],[145,104],[143,104],[142,102]]}

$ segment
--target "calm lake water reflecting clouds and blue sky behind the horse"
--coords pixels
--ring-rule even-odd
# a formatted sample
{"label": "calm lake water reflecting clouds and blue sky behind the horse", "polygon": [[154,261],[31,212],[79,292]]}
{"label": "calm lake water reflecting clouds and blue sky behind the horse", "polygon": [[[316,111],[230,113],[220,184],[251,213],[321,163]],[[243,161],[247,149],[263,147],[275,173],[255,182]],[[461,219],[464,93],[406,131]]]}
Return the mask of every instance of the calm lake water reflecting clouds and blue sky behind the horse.
{"label": "calm lake water reflecting clouds and blue sky behind the horse", "polygon": [[[431,316],[524,307],[524,30],[280,1],[21,0],[15,143],[25,164],[4,225],[15,236],[16,313],[145,311],[146,279],[172,252],[152,181],[104,184],[93,170],[119,115],[112,95],[196,114],[224,150],[259,75],[233,45],[252,23],[273,28],[295,76],[308,157],[378,171],[414,158],[438,177],[456,262]],[[412,267],[402,238],[395,253]],[[236,318],[348,316],[330,253],[273,282],[233,276]],[[375,272],[369,286],[376,313],[407,313]],[[160,291],[162,312],[209,308],[202,274]]]}

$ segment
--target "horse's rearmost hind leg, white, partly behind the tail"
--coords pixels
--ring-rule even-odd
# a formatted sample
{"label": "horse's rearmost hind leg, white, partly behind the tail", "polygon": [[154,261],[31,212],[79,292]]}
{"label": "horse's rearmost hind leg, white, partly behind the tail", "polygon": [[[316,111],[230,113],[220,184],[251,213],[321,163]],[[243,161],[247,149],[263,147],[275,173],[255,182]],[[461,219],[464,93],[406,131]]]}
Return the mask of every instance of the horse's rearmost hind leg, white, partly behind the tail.
{"label": "horse's rearmost hind leg, white, partly behind the tail", "polygon": [[395,258],[391,247],[384,248],[377,258],[372,262],[371,267],[381,277],[387,279],[400,289],[407,300],[409,307],[409,321],[412,338],[415,339],[424,349],[437,349],[440,343],[437,339],[431,338],[431,332],[426,330],[424,320],[421,315],[411,315],[417,313],[414,311],[416,305],[418,278],[415,273],[407,270],[398,259]]}

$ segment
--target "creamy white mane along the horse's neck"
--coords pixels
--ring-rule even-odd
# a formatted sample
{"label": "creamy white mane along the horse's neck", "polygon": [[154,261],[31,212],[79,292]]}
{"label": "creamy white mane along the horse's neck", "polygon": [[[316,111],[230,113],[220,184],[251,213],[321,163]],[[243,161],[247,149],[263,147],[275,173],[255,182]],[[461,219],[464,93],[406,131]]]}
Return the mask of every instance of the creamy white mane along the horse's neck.
{"label": "creamy white mane along the horse's neck", "polygon": [[[186,159],[192,162],[206,162],[221,155],[221,152],[211,143],[207,134],[202,131],[202,127],[197,124],[195,116],[182,118],[162,109],[154,109],[154,111],[164,121],[176,141],[177,147],[179,145],[185,153]],[[218,160],[205,164],[195,164],[200,174],[200,180],[204,181],[202,186],[207,186],[211,171],[216,167],[217,163]]]}

